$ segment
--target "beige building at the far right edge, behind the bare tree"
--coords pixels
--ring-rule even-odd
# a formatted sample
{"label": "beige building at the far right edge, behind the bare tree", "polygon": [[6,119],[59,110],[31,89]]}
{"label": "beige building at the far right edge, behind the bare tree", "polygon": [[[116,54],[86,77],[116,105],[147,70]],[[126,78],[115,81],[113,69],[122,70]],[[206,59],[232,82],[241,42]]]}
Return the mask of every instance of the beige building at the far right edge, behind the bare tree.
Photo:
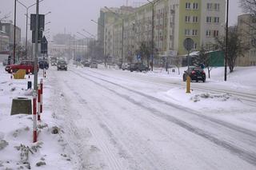
{"label": "beige building at the far right edge, behind the bare tree", "polygon": [[242,43],[249,50],[243,56],[238,57],[238,66],[256,65],[256,18],[251,14],[242,14],[238,16],[238,33]]}

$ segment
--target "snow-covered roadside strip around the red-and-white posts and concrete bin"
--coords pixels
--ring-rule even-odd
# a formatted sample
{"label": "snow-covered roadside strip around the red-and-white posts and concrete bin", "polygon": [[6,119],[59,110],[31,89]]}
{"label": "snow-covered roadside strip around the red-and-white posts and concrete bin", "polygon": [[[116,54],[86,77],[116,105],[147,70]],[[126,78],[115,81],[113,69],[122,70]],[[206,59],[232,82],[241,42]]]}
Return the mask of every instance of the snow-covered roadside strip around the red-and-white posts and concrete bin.
{"label": "snow-covered roadside strip around the red-and-white posts and concrete bin", "polygon": [[[62,128],[49,107],[50,87],[45,80],[42,121],[38,121],[38,142],[33,143],[32,115],[10,116],[12,99],[32,100],[27,81],[10,79],[0,66],[0,169],[75,169],[73,152],[63,139]],[[39,72],[40,73],[40,72]],[[42,76],[39,74],[39,76]]]}

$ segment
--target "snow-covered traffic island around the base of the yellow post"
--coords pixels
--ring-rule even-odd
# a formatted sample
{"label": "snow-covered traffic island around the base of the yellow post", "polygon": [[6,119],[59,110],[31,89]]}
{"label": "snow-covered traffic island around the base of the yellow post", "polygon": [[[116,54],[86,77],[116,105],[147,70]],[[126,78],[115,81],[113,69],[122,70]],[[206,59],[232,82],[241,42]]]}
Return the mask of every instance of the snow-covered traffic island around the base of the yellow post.
{"label": "snow-covered traffic island around the base of the yellow post", "polygon": [[185,88],[173,88],[166,93],[158,93],[158,96],[162,96],[166,101],[202,112],[239,113],[253,109],[252,106],[246,105],[229,93],[202,93],[197,90],[186,93]]}

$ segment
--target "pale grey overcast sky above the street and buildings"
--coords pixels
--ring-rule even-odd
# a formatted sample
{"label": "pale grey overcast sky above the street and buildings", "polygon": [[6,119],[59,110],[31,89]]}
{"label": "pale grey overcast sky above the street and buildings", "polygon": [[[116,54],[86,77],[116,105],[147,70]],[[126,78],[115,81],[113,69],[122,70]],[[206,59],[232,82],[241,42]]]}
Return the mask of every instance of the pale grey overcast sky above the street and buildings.
{"label": "pale grey overcast sky above the street and buildings", "polygon": [[[36,0],[19,0],[26,6],[30,6]],[[137,2],[146,2],[146,0],[129,0],[129,5],[135,5]],[[57,33],[76,34],[82,32],[82,29],[89,31],[92,34],[97,34],[97,25],[90,22],[90,19],[97,21],[100,8],[104,6],[118,7],[126,4],[126,0],[43,0],[40,2],[40,14],[46,14],[51,11],[51,14],[46,15],[46,22],[51,22],[46,25],[46,29],[50,29],[50,35]],[[14,0],[0,0],[0,18],[3,14],[10,13],[9,20],[14,20]],[[35,12],[35,6],[30,8],[30,13]],[[22,37],[25,37],[26,31],[26,9],[17,3],[17,26],[22,29]],[[230,1],[230,25],[237,22],[238,14],[242,14],[239,8],[238,0]],[[29,32],[30,33],[30,32]],[[86,34],[86,36],[89,36]]]}

